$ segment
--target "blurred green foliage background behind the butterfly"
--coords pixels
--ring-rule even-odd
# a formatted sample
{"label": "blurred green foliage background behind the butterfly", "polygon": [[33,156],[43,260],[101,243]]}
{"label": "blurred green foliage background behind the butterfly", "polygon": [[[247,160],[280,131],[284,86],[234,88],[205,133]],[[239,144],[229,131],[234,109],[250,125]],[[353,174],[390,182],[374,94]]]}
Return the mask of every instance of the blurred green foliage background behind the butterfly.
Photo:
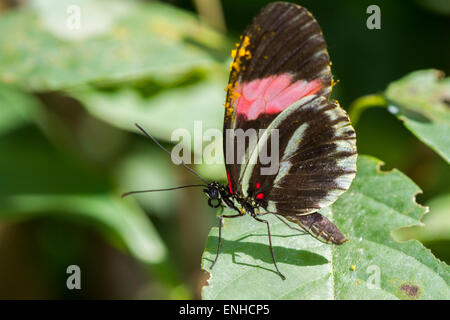
{"label": "blurred green foliage background behind the butterfly", "polygon": [[[225,34],[194,2],[167,2],[0,1],[0,298],[200,297],[215,211],[198,190],[119,198],[197,182],[133,124],[167,147],[193,120],[221,129],[229,52],[269,1],[223,1]],[[296,2],[322,26],[344,107],[415,70],[450,72],[445,1]],[[381,7],[381,30],[366,28],[370,4]],[[403,171],[430,204],[425,227],[399,237],[450,262],[448,163],[385,109],[355,125],[359,152]],[[224,179],[220,166],[198,169]],[[65,287],[70,264],[83,270],[79,292]]]}

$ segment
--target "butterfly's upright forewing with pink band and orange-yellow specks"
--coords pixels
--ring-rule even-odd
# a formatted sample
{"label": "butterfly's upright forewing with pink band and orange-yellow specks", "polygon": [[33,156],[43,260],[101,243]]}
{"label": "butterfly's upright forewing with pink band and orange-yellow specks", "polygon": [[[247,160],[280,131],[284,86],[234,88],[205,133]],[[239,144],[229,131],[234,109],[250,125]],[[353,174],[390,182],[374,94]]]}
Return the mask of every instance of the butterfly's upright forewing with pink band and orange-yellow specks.
{"label": "butterfly's upright forewing with pink band and orange-yellow specks", "polygon": [[[232,150],[236,143],[226,137],[226,129],[264,129],[304,96],[314,93],[328,98],[332,76],[319,24],[306,9],[292,3],[265,6],[244,31],[234,56],[225,102],[224,154],[233,154],[226,159],[230,189],[240,191],[243,171],[239,162],[245,161],[236,158],[238,152]],[[258,107],[254,99],[261,92],[269,96],[266,107],[272,107],[270,112],[263,112],[264,107]],[[245,150],[248,147],[246,142]]]}

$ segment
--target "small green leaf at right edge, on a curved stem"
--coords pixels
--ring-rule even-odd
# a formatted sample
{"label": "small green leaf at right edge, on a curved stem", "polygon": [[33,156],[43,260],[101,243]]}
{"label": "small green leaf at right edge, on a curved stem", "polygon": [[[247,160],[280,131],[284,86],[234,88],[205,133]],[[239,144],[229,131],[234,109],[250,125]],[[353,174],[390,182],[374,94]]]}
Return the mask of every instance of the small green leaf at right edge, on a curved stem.
{"label": "small green leaf at right edge, on a curved stem", "polygon": [[413,72],[391,83],[388,110],[450,163],[450,78],[438,70]]}

